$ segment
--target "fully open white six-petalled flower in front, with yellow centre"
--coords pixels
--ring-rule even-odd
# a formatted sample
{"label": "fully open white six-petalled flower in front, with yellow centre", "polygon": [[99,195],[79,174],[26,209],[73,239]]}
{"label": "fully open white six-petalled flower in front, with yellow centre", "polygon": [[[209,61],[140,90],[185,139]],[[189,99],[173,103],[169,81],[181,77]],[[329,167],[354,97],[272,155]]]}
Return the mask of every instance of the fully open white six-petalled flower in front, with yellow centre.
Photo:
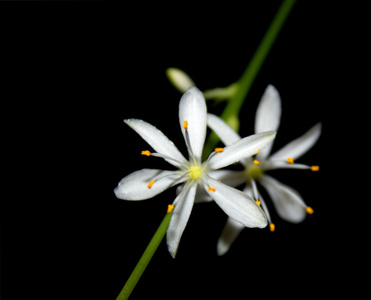
{"label": "fully open white six-petalled flower in front, with yellow centre", "polygon": [[208,160],[201,163],[201,155],[206,136],[206,103],[202,93],[190,88],[179,103],[180,128],[186,141],[189,160],[157,128],[137,119],[124,122],[134,129],[155,151],[142,151],[143,155],[157,156],[177,167],[176,171],[143,169],[124,177],[115,194],[124,200],[144,200],[152,198],[171,186],[183,183],[182,191],[173,202],[175,206],[167,231],[167,244],[170,254],[175,257],[183,230],[188,222],[197,186],[224,210],[224,212],[246,227],[263,228],[267,219],[263,210],[246,194],[218,182],[213,172],[253,155],[257,149],[266,147],[276,133],[269,131],[239,140],[225,148],[217,148]]}

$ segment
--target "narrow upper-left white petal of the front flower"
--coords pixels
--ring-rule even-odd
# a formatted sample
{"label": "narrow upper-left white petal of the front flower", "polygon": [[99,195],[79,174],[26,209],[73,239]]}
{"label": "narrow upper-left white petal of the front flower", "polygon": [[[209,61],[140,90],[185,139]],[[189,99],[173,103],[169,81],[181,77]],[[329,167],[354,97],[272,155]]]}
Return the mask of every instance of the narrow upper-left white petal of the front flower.
{"label": "narrow upper-left white petal of the front flower", "polygon": [[187,160],[174,143],[155,126],[138,119],[128,119],[124,122],[134,129],[155,151],[174,158],[175,161],[165,159],[168,163],[178,168],[187,165]]}

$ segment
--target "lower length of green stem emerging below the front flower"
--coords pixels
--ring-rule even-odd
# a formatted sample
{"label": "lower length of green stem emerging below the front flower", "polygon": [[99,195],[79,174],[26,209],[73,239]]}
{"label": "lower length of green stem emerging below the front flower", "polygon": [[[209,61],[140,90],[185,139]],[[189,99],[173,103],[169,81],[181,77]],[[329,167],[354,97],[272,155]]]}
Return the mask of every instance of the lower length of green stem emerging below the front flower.
{"label": "lower length of green stem emerging below the front flower", "polygon": [[172,212],[167,213],[165,215],[160,226],[157,228],[157,231],[155,232],[154,236],[149,242],[146,250],[144,251],[142,257],[138,261],[136,267],[134,268],[128,281],[125,283],[116,300],[126,300],[129,298],[131,292],[133,291],[138,280],[140,279],[148,263],[150,262],[152,256],[155,254],[158,246],[160,245],[162,239],[164,238],[167,228],[169,227],[171,215]]}

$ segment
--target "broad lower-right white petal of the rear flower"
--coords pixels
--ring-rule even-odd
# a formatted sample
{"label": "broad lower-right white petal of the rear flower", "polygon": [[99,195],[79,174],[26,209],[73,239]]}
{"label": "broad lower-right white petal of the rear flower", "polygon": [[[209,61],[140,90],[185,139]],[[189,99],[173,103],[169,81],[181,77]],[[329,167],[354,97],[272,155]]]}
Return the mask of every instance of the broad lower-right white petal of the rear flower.
{"label": "broad lower-right white petal of the rear flower", "polygon": [[282,219],[292,223],[304,220],[307,206],[296,190],[266,174],[261,176],[259,182],[267,190]]}

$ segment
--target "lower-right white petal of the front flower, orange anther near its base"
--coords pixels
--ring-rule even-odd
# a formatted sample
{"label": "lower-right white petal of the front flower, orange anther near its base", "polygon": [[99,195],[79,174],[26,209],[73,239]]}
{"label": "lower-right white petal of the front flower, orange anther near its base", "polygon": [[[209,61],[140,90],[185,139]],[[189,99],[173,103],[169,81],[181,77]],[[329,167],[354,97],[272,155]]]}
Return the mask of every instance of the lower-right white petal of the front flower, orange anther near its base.
{"label": "lower-right white petal of the front flower, orange anther near its base", "polygon": [[248,195],[210,177],[203,180],[206,192],[229,217],[246,227],[267,226],[263,210]]}

